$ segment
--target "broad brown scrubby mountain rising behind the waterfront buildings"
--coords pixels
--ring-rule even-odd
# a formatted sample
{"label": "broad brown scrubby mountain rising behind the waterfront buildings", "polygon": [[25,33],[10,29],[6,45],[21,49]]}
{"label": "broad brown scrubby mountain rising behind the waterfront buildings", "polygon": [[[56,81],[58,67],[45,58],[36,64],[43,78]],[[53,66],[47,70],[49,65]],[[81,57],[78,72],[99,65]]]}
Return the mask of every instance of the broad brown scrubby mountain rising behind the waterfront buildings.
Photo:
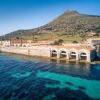
{"label": "broad brown scrubby mountain rising behind the waterfront buildings", "polygon": [[6,34],[5,37],[32,37],[34,34],[37,37],[46,35],[55,35],[55,34],[85,34],[86,32],[94,31],[100,33],[100,16],[80,14],[77,11],[65,12],[52,22],[41,26],[39,28],[30,29],[30,30],[18,30]]}

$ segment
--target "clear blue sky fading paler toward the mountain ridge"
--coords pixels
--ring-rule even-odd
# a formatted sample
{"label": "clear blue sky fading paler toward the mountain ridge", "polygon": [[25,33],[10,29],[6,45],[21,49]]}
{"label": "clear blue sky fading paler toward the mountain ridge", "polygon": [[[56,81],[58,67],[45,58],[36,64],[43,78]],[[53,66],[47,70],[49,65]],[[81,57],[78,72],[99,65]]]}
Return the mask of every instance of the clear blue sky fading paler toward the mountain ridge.
{"label": "clear blue sky fading paler toward the mountain ridge", "polygon": [[67,10],[100,15],[100,0],[0,0],[0,35],[45,25]]}

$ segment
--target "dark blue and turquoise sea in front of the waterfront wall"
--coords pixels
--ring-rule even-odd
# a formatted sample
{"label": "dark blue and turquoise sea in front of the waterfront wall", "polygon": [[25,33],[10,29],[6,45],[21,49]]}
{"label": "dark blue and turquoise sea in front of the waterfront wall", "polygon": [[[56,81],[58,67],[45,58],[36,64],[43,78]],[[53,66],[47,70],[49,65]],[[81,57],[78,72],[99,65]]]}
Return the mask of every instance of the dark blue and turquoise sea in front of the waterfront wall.
{"label": "dark blue and turquoise sea in front of the waterfront wall", "polygon": [[57,64],[2,53],[0,100],[100,100],[100,64]]}

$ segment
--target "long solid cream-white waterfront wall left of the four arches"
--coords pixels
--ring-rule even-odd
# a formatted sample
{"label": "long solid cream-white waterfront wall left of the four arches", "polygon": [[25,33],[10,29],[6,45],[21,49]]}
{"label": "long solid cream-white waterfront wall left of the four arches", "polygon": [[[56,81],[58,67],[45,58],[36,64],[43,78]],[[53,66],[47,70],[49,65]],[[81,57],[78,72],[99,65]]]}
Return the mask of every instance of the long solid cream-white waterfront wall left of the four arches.
{"label": "long solid cream-white waterfront wall left of the four arches", "polygon": [[31,56],[50,57],[50,49],[47,47],[34,46],[34,47],[2,47],[2,52],[24,54]]}

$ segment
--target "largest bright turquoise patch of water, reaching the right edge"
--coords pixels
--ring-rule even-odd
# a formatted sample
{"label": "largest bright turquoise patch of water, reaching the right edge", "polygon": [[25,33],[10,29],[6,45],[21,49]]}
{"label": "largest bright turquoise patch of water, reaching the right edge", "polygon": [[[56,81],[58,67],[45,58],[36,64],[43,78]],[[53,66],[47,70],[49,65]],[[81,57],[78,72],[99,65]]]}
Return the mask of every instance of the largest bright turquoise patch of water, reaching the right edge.
{"label": "largest bright turquoise patch of water, reaching the right edge", "polygon": [[[44,72],[40,70],[36,73],[36,76],[40,78],[51,79],[51,80],[56,80],[60,82],[60,84],[57,84],[57,85],[46,84],[46,87],[49,87],[49,88],[68,87],[72,90],[78,90],[80,89],[79,87],[83,87],[84,89],[82,89],[81,91],[85,92],[89,97],[94,98],[94,99],[100,99],[100,81],[87,80],[87,79],[82,79],[79,77],[52,73],[48,71]],[[67,84],[67,82],[70,82],[73,85],[69,85]]]}

